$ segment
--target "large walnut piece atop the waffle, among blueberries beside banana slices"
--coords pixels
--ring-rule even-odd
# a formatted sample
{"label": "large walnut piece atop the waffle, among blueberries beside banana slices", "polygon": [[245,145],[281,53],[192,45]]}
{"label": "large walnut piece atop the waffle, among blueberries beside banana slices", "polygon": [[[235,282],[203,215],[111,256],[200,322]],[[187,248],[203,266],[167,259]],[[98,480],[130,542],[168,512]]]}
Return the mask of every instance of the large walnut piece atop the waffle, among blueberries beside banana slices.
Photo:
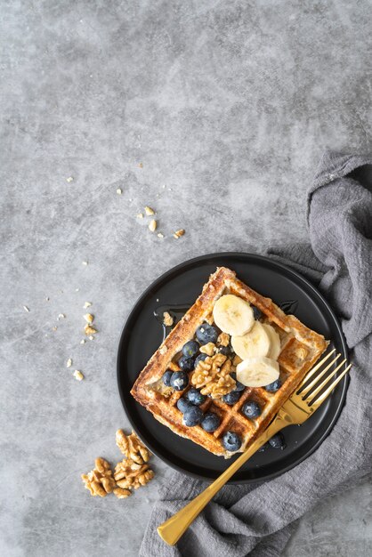
{"label": "large walnut piece atop the waffle, among blueberries beside banana slices", "polygon": [[191,378],[191,383],[202,394],[210,394],[213,399],[221,399],[224,394],[233,391],[236,382],[230,376],[231,360],[221,353],[214,354],[199,361]]}

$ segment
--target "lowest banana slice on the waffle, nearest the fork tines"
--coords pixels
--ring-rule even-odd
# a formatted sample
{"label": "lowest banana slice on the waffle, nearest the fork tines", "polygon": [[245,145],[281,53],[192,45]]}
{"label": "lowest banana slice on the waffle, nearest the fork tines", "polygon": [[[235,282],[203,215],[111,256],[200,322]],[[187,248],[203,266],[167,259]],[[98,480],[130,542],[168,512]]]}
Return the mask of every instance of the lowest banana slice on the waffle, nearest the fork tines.
{"label": "lowest banana slice on the waffle, nearest the fork tines", "polygon": [[279,378],[279,364],[271,358],[244,359],[237,366],[237,379],[246,387],[264,387]]}

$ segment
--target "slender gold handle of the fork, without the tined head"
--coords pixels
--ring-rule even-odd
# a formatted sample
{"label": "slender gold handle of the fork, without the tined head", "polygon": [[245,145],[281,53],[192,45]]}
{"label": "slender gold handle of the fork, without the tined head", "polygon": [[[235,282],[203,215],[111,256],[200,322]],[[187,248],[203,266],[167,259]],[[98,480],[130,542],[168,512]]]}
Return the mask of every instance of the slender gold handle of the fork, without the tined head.
{"label": "slender gold handle of the fork, without the tined head", "polygon": [[231,476],[233,476],[235,472],[238,472],[239,468],[245,464],[267,440],[271,439],[275,433],[278,433],[283,427],[286,427],[286,425],[289,424],[285,423],[281,416],[277,415],[263,434],[255,440],[251,447],[247,448],[237,460],[230,464],[229,468],[222,472],[221,476],[214,480],[214,482],[195,497],[195,499],[192,499],[188,505],[182,507],[178,513],[175,513],[170,519],[160,524],[160,526],[158,526],[158,535],[164,539],[166,544],[176,544],[180,537],[182,537],[182,534],[189,528],[191,522],[197,518],[198,514],[201,513],[207,503],[209,503],[222,486],[230,480]]}

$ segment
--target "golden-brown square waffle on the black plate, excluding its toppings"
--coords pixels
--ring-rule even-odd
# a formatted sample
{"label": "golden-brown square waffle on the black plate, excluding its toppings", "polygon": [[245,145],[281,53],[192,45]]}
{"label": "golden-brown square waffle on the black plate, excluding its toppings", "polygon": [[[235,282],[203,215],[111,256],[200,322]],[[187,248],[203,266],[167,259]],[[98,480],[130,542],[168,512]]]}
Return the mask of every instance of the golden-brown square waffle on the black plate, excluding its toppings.
{"label": "golden-brown square waffle on the black plate, excluding its toppings", "polygon": [[[215,432],[206,432],[200,425],[187,427],[182,424],[182,413],[176,407],[177,400],[185,391],[175,392],[162,382],[166,369],[177,370],[176,364],[184,343],[194,338],[196,329],[204,322],[213,323],[213,308],[216,300],[225,294],[238,295],[263,312],[263,320],[275,328],[280,337],[278,358],[281,387],[277,392],[268,392],[264,387],[246,387],[239,401],[229,406],[220,400],[206,398],[200,406],[203,411],[212,411],[221,418]],[[223,433],[233,431],[239,434],[242,444],[238,452],[243,452],[270,424],[280,406],[287,400],[303,376],[313,367],[319,356],[326,350],[328,342],[322,335],[305,327],[293,315],[286,315],[272,302],[247,287],[236,278],[234,271],[218,268],[203,287],[197,301],[166,336],[164,342],[142,369],[131,393],[135,400],[147,408],[159,422],[167,425],[174,433],[192,440],[214,455],[229,458],[232,454],[222,446]],[[192,374],[190,372],[190,379]],[[241,408],[246,400],[255,400],[262,408],[261,416],[250,419]]]}

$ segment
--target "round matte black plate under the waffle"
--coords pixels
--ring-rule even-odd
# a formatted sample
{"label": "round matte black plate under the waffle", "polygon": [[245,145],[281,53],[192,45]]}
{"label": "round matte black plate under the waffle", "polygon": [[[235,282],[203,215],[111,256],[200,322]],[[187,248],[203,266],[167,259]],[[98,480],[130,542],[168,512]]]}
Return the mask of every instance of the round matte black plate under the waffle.
{"label": "round matte black plate under the waffle", "polygon": [[[123,329],[117,354],[117,383],[126,416],[150,450],[176,470],[204,480],[214,480],[230,460],[214,456],[190,440],[171,432],[130,394],[135,379],[163,340],[157,313],[168,308],[176,314],[190,307],[217,266],[226,266],[275,303],[287,308],[305,325],[332,341],[344,354],[341,327],[328,303],[294,270],[255,254],[210,254],[184,262],[158,278],[134,305]],[[256,453],[234,476],[233,482],[269,479],[287,472],[319,446],[336,422],[344,403],[347,381],[342,380],[326,403],[302,426],[284,431],[287,448]]]}

